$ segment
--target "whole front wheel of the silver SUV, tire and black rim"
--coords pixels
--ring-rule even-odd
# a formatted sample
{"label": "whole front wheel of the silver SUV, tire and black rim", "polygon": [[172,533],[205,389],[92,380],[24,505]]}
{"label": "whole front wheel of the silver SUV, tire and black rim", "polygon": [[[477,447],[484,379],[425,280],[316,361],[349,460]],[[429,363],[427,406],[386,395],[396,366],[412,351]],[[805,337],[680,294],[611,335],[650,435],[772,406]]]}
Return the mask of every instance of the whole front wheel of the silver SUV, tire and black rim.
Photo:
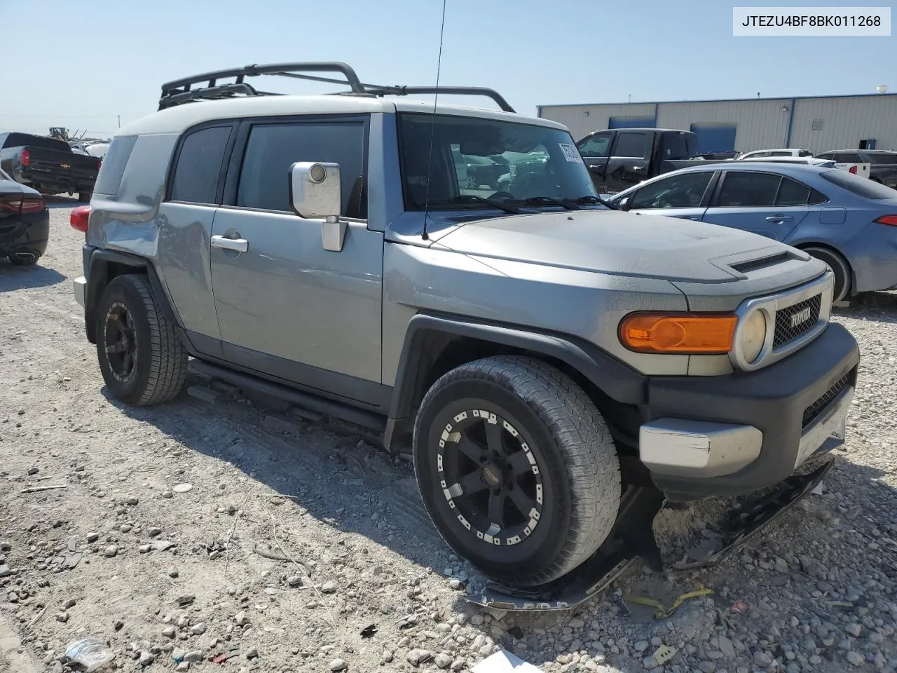
{"label": "whole front wheel of the silver SUV, tire and black rim", "polygon": [[518,586],[583,563],[620,505],[604,419],[573,380],[526,357],[477,360],[437,380],[414,424],[414,469],[448,546]]}

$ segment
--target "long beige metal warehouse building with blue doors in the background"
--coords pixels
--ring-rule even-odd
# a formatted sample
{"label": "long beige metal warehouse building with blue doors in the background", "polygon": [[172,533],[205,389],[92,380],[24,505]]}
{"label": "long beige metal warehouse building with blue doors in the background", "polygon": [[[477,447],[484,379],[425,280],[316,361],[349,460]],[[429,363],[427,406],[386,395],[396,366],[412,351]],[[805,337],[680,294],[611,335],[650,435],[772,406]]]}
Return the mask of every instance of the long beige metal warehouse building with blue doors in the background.
{"label": "long beige metal warehouse building with blue doors in the background", "polygon": [[605,128],[691,130],[701,153],[799,147],[897,150],[897,94],[731,101],[540,105],[538,116],[559,121],[576,140]]}

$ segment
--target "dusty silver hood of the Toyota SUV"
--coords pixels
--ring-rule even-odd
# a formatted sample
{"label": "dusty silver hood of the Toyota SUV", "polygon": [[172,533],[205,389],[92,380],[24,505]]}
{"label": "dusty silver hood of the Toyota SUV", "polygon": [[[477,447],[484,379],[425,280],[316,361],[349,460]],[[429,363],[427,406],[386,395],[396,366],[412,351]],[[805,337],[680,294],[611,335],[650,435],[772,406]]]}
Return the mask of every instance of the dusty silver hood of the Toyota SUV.
{"label": "dusty silver hood of the Toyota SUV", "polygon": [[439,245],[483,258],[692,283],[742,280],[745,274],[730,265],[745,259],[787,251],[796,260],[808,258],[759,234],[606,210],[478,220],[449,232]]}

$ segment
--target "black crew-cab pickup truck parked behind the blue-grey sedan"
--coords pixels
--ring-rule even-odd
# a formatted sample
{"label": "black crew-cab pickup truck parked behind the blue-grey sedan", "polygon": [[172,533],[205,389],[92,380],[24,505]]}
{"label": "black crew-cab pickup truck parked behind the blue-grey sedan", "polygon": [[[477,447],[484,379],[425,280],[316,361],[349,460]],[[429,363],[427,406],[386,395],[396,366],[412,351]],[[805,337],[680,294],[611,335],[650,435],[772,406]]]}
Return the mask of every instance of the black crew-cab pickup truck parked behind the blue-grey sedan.
{"label": "black crew-cab pickup truck parked behind the blue-grey sedan", "polygon": [[[671,128],[594,131],[576,144],[599,193],[614,194],[642,180],[708,160],[698,136]],[[710,160],[726,161],[726,160]]]}

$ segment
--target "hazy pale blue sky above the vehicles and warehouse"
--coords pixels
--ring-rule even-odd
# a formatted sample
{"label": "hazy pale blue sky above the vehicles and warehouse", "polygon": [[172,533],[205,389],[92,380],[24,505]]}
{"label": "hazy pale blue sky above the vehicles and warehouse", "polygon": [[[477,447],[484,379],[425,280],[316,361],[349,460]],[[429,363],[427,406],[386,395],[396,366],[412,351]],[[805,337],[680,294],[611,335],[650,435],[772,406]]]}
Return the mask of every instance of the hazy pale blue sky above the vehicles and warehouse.
{"label": "hazy pale blue sky above the vehicles and warehouse", "polygon": [[[897,91],[897,37],[735,38],[732,6],[448,0],[441,83],[491,86],[527,114],[538,104],[630,94],[667,101],[872,93],[877,84]],[[126,124],[156,109],[161,83],[250,63],[341,60],[362,82],[433,84],[441,13],[441,0],[0,0],[0,130],[109,135],[117,116]],[[327,91],[264,86],[275,84]]]}

